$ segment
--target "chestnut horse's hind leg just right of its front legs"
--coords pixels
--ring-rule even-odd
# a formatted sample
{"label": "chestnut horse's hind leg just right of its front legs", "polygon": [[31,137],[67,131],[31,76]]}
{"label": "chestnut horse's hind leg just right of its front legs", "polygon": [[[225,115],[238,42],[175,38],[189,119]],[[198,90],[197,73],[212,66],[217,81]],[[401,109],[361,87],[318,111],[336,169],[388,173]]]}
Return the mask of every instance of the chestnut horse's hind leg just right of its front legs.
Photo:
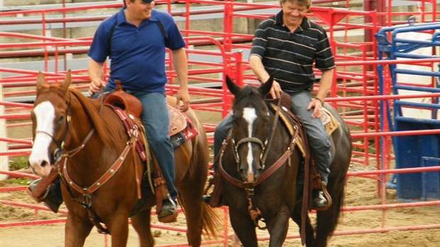
{"label": "chestnut horse's hind leg just right of its front legs", "polygon": [[151,209],[138,212],[131,217],[131,225],[136,230],[141,242],[141,247],[150,247],[154,245],[153,235],[151,235],[150,229],[150,212]]}

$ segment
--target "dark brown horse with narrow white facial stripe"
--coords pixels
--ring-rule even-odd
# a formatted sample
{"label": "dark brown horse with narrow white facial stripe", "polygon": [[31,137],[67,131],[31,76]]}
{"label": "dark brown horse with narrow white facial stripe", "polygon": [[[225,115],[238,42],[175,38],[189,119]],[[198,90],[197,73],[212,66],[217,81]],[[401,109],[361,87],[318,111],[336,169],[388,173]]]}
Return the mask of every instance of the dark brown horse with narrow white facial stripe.
{"label": "dark brown horse with narrow white facial stripe", "polygon": [[[338,223],[343,204],[346,172],[351,158],[351,137],[339,114],[326,104],[341,126],[331,134],[332,157],[329,194],[334,203],[317,212],[314,231],[309,216],[302,211],[304,158],[297,148],[297,132],[291,135],[270,110],[265,95],[272,87],[270,79],[260,88],[238,87],[226,78],[235,95],[232,106],[232,130],[222,147],[219,160],[222,197],[229,206],[231,225],[243,246],[257,246],[256,226],[264,221],[270,234],[269,246],[282,246],[289,219],[302,226],[304,212],[305,243],[326,246]],[[278,115],[279,116],[279,115]],[[293,127],[302,128],[298,125]],[[316,237],[315,234],[316,233]]]}

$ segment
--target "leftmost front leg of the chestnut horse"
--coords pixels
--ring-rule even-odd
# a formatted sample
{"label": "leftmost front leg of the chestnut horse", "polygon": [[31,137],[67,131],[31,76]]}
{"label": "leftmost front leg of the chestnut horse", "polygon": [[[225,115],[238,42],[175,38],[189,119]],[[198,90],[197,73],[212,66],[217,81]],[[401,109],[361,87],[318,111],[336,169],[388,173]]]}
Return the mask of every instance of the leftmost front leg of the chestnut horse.
{"label": "leftmost front leg of the chestnut horse", "polygon": [[92,231],[93,224],[87,217],[67,213],[65,224],[65,247],[84,246],[87,236]]}

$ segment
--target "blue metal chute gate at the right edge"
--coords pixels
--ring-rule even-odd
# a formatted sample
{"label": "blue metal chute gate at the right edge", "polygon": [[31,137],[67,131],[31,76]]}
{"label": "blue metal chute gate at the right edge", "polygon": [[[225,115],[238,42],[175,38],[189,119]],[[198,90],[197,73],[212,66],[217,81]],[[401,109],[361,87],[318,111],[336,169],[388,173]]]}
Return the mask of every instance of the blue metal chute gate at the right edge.
{"label": "blue metal chute gate at the right edge", "polygon": [[[414,38],[405,38],[412,33],[429,33],[432,37],[429,40],[417,40]],[[440,23],[424,23],[408,26],[394,26],[382,28],[375,34],[378,39],[378,57],[379,60],[397,60],[420,59],[420,58],[438,58],[440,56],[438,48],[440,47]],[[431,48],[431,55],[417,54],[421,48]],[[415,52],[415,53],[414,53]],[[429,63],[431,66],[433,63]],[[427,66],[426,63],[420,66]],[[392,94],[402,94],[402,92],[439,93],[440,92],[440,69],[439,63],[432,66],[431,71],[419,69],[400,68],[397,65],[388,65],[390,80],[392,82]],[[387,82],[385,82],[385,73],[383,65],[378,65],[380,92],[385,92]],[[428,77],[430,84],[412,84],[401,82],[400,78]],[[409,93],[411,94],[411,93]],[[380,106],[386,111],[381,114],[381,119],[387,118],[391,131],[414,131],[440,129],[439,119],[439,97],[427,97],[430,102],[414,102],[405,99],[395,99],[392,106],[387,101],[381,102]],[[429,111],[431,116],[428,118],[419,118],[414,114],[406,113],[405,109],[423,109]],[[420,110],[422,111],[422,110]],[[412,135],[412,136],[394,136],[392,138],[395,151],[396,168],[417,168],[423,166],[440,165],[440,135]],[[420,199],[440,199],[440,171],[434,172],[411,172],[395,174],[395,187],[397,197],[402,200],[420,200]]]}

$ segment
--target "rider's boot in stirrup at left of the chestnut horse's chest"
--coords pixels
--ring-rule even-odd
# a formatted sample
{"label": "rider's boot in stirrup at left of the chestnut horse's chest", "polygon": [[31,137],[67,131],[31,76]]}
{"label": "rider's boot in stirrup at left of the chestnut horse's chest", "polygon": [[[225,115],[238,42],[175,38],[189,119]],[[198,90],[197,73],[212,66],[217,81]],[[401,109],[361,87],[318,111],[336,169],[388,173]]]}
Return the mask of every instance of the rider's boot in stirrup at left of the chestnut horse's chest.
{"label": "rider's boot in stirrup at left of the chestnut horse's chest", "polygon": [[[37,187],[38,183],[41,179],[35,180],[29,185],[29,190],[33,190]],[[38,198],[39,202],[43,202],[46,207],[48,207],[52,212],[57,213],[60,205],[62,204],[62,194],[60,187],[60,178],[57,177],[51,185],[48,186],[48,189],[43,194],[42,197]]]}

